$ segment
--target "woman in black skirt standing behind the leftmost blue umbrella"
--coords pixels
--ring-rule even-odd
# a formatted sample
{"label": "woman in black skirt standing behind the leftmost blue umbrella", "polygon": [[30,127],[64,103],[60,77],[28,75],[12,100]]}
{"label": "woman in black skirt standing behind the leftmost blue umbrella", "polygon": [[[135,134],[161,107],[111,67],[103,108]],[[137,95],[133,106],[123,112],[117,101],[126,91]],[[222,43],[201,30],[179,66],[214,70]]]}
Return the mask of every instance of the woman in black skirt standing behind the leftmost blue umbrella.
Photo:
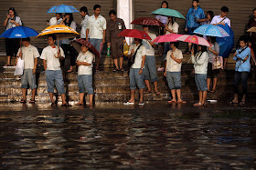
{"label": "woman in black skirt standing behind the leftmost blue umbrella", "polygon": [[[14,7],[10,7],[8,10],[8,15],[5,18],[4,26],[5,30],[22,25],[20,17],[16,15],[16,10]],[[7,64],[5,66],[11,65],[11,56],[16,56],[18,51],[18,39],[17,38],[5,38],[5,50],[7,55]]]}

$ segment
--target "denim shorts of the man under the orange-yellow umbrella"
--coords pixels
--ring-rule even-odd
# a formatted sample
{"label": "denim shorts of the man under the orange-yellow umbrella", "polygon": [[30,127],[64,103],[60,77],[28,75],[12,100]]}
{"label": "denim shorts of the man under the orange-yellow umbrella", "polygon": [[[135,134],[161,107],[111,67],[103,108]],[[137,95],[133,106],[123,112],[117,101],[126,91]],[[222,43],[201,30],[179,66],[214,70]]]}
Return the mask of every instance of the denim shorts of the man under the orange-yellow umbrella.
{"label": "denim shorts of the man under the orange-yellow umbrella", "polygon": [[54,85],[59,94],[65,94],[64,81],[61,70],[47,70],[46,79],[48,84],[48,93],[54,93]]}

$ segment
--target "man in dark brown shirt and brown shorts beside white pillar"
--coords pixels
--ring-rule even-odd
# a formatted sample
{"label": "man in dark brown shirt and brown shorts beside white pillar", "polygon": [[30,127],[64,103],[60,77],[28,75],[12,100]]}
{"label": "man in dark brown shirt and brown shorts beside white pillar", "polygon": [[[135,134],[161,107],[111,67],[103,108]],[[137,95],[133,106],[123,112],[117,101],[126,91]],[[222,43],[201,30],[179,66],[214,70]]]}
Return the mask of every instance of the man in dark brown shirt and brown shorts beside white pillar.
{"label": "man in dark brown shirt and brown shorts beside white pillar", "polygon": [[[111,10],[109,15],[111,16],[111,20],[107,23],[106,39],[108,46],[111,46],[112,59],[115,65],[112,71],[116,72],[120,70],[123,72],[123,43],[125,43],[125,39],[123,36],[118,35],[126,28],[123,19],[117,18],[114,10]],[[118,66],[118,58],[120,60],[120,68]]]}

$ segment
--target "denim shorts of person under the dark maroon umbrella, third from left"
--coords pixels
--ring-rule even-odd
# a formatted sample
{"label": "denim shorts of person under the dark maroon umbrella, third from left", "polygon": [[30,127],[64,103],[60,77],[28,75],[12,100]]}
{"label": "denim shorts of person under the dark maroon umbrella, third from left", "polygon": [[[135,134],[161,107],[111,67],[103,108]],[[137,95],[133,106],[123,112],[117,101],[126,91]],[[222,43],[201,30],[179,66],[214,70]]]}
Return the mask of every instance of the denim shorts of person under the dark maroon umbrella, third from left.
{"label": "denim shorts of person under the dark maroon umbrella, third from left", "polygon": [[92,75],[78,75],[78,85],[80,94],[87,91],[88,95],[93,94]]}

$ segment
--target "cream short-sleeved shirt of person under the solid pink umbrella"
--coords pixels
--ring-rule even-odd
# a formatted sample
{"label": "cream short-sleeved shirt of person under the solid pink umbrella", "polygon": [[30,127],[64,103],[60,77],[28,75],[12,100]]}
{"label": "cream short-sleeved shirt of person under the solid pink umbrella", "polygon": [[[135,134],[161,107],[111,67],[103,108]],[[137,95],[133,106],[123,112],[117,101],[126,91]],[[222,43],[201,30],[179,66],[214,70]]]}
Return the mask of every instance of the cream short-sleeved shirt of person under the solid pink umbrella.
{"label": "cream short-sleeved shirt of person under the solid pink umbrella", "polygon": [[171,54],[174,54],[176,59],[182,59],[182,51],[176,48],[176,51],[172,52],[172,50],[168,51],[166,55],[166,71],[167,72],[181,72],[182,63],[177,63],[174,59],[172,59]]}

